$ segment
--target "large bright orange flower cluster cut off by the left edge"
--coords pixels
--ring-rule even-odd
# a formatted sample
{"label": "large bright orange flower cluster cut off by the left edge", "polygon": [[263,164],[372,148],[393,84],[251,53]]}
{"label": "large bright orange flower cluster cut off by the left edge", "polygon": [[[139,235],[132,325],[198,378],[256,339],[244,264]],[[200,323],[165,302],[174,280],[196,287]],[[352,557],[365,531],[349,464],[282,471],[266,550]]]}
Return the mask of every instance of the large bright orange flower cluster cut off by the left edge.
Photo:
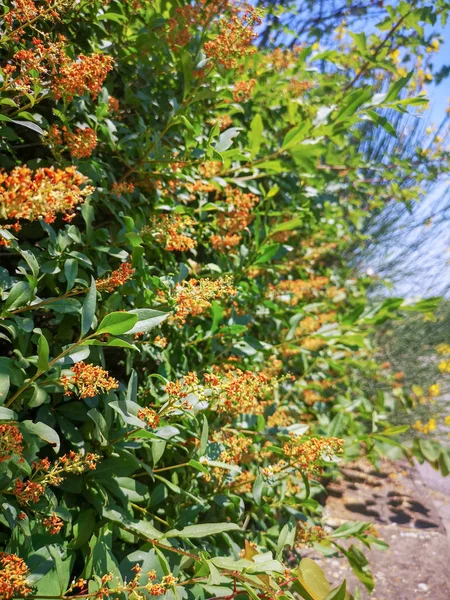
{"label": "large bright orange flower cluster cut off by the left edge", "polygon": [[70,221],[77,204],[94,188],[81,185],[87,177],[77,173],[75,167],[66,169],[42,168],[32,171],[28,167],[15,167],[11,173],[0,172],[0,218],[36,221],[43,218],[52,223],[56,214]]}

